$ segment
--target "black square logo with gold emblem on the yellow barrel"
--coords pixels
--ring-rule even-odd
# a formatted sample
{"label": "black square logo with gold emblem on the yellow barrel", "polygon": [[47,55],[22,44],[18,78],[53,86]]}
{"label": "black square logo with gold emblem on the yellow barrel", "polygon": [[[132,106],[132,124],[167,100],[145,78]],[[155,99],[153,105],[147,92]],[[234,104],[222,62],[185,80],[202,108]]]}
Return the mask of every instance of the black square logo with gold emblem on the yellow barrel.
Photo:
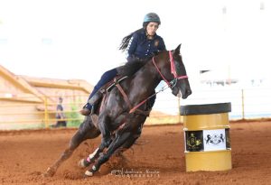
{"label": "black square logo with gold emblem on the yellow barrel", "polygon": [[197,152],[203,150],[202,131],[185,132],[186,151]]}

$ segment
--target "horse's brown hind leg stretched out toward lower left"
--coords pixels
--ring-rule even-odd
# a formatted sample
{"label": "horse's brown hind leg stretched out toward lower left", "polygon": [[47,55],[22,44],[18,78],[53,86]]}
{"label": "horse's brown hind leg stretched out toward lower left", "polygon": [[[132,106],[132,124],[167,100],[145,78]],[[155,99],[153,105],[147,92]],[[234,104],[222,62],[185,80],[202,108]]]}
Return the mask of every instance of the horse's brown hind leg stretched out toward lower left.
{"label": "horse's brown hind leg stretched out toward lower left", "polygon": [[51,167],[44,172],[45,177],[51,177],[55,174],[57,169],[60,167],[62,162],[65,162],[70,158],[73,151],[79,146],[80,143],[87,139],[92,139],[98,137],[100,132],[92,124],[90,116],[86,116],[84,122],[79,126],[79,130],[70,139],[70,144],[68,148],[61,154],[60,159],[54,162]]}

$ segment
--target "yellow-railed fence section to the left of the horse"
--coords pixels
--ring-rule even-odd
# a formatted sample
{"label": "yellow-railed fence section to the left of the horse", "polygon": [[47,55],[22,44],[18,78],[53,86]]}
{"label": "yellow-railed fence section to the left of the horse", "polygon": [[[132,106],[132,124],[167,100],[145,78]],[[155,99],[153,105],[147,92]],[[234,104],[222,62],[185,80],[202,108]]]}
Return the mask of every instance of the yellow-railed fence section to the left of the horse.
{"label": "yellow-railed fence section to the left of the horse", "polygon": [[[32,101],[33,97],[17,97],[0,97],[0,130],[45,128],[60,121],[56,118],[59,97],[39,97],[40,101]],[[62,103],[64,120],[69,126],[78,126],[84,118],[79,115],[79,108],[88,97],[86,95],[61,97],[64,99]]]}

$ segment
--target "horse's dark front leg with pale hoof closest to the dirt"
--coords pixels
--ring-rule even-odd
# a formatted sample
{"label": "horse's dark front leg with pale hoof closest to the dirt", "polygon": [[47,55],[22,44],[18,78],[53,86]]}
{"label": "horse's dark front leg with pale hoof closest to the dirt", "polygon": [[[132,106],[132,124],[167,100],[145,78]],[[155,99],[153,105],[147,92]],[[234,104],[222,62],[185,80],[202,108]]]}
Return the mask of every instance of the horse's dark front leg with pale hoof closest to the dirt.
{"label": "horse's dark front leg with pale hoof closest to the dirt", "polygon": [[121,134],[117,134],[117,137],[112,141],[112,143],[110,143],[107,153],[105,153],[104,155],[101,155],[98,160],[94,163],[94,165],[92,166],[91,169],[89,169],[89,171],[85,172],[86,176],[93,176],[93,174],[99,170],[100,166],[107,162],[109,160],[109,158],[111,157],[111,155],[113,153],[115,153],[115,151],[122,146],[124,143],[126,143],[126,140],[131,137],[132,134],[130,132],[126,132],[126,133],[121,133]]}

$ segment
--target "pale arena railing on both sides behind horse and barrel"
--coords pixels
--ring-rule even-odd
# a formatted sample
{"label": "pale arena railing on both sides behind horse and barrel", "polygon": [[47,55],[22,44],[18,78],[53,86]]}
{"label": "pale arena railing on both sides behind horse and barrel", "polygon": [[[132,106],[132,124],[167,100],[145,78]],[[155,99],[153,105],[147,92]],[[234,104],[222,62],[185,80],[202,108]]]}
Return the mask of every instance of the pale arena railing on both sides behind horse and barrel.
{"label": "pale arena railing on both sides behind horse and barrel", "polygon": [[[176,124],[182,122],[179,113],[181,105],[211,104],[231,102],[230,120],[271,117],[271,88],[208,88],[194,89],[186,100],[173,97],[170,90],[157,95],[151,116],[146,125]],[[62,96],[63,97],[63,96]],[[55,118],[57,97],[42,97],[42,102],[15,101],[12,97],[0,98],[0,130],[45,128],[57,122]],[[78,127],[84,116],[79,109],[87,96],[63,97],[62,106],[69,127]],[[50,101],[49,101],[50,100]]]}

